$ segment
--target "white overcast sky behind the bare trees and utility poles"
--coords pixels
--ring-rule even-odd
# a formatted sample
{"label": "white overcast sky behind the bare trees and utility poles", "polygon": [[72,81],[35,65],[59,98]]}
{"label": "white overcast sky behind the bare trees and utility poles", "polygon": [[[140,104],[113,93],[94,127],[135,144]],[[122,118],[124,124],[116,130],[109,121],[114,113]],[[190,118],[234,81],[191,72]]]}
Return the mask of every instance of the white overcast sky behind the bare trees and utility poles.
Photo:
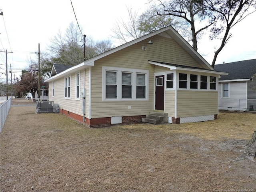
{"label": "white overcast sky behind the bare trees and utility poles", "polygon": [[[111,29],[116,20],[128,18],[126,7],[142,13],[148,8],[147,2],[148,0],[72,0],[83,34],[94,40],[111,38]],[[36,58],[34,52],[38,52],[38,43],[40,52],[44,52],[50,44],[50,38],[59,31],[64,33],[70,22],[76,24],[70,0],[1,0],[0,9],[4,14],[0,16],[0,50],[13,52],[8,53],[8,68],[12,64],[13,72],[26,68],[30,57]],[[256,12],[232,29],[232,39],[219,54],[216,64],[256,58],[255,19]],[[211,64],[214,48],[219,44],[219,40],[210,41],[205,35],[198,44],[198,52]],[[0,72],[5,71],[5,65],[6,54],[0,52]],[[0,73],[0,78],[4,77]]]}

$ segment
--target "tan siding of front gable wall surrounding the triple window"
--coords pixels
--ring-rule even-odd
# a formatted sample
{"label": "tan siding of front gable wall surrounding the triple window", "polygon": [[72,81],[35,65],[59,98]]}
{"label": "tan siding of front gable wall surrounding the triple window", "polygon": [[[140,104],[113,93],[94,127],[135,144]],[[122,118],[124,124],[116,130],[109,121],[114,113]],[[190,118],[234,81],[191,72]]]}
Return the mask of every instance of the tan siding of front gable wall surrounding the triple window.
{"label": "tan siding of front gable wall surrounding the triple window", "polygon": [[[110,116],[145,115],[154,109],[154,72],[167,71],[166,68],[148,64],[148,60],[156,60],[174,64],[201,67],[190,55],[188,55],[174,40],[157,36],[153,37],[154,44],[147,45],[147,50],[142,46],[148,42],[140,42],[124,48],[100,60],[92,67],[92,98],[91,118]],[[130,68],[149,71],[149,95],[148,101],[102,101],[102,67]],[[105,86],[105,85],[103,85]],[[128,109],[131,106],[131,109]]]}

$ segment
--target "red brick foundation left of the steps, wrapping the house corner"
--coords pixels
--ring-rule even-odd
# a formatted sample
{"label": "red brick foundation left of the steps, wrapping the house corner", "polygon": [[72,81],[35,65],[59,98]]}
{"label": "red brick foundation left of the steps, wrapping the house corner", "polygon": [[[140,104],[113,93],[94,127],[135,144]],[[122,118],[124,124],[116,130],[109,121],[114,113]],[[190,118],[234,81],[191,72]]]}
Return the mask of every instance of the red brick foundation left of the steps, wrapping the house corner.
{"label": "red brick foundation left of the steps, wrapping the house corner", "polygon": [[[99,128],[99,127],[106,127],[111,126],[111,117],[103,117],[103,118],[92,118],[88,119],[85,118],[85,122],[83,121],[83,116],[80,116],[78,114],[68,112],[66,110],[60,110],[61,114],[64,114],[74,120],[78,120],[82,123],[84,123],[89,128]],[[138,116],[123,116],[122,117],[122,124],[132,124],[132,123],[140,123],[141,119],[143,117],[146,117],[146,115],[138,115]]]}

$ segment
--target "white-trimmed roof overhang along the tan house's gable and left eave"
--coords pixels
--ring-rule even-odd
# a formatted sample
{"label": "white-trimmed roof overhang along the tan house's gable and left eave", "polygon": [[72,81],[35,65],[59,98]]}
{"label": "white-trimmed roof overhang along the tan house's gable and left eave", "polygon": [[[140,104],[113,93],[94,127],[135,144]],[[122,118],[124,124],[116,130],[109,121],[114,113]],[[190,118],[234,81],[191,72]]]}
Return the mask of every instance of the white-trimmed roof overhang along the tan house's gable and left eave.
{"label": "white-trimmed roof overhang along the tan house's gable and left eave", "polygon": [[55,78],[65,76],[66,73],[70,74],[70,73],[76,72],[78,70],[83,70],[84,68],[94,66],[94,61],[99,60],[100,58],[108,56],[112,53],[115,53],[119,50],[122,50],[122,49],[128,47],[128,46],[131,46],[133,44],[136,44],[138,42],[141,42],[143,40],[146,40],[146,39],[148,39],[152,36],[156,36],[156,35],[167,36],[167,37],[174,39],[184,50],[186,50],[186,52],[188,52],[188,54],[190,54],[190,56],[192,58],[194,58],[194,60],[196,60],[202,66],[202,68],[205,67],[212,71],[215,71],[214,68],[212,68],[212,66],[198,52],[196,52],[196,50],[194,50],[194,48],[188,42],[186,42],[186,40],[176,30],[174,30],[174,28],[172,28],[172,26],[168,26],[168,27],[162,28],[160,30],[157,30],[155,32],[152,32],[150,34],[147,34],[145,36],[142,36],[138,39],[132,40],[132,41],[130,41],[126,44],[123,44],[121,46],[118,46],[116,48],[108,50],[102,54],[95,56],[95,57],[92,57],[76,66],[73,66],[72,68],[69,68],[63,72],[60,72],[59,74],[56,74],[55,76],[51,76],[49,79],[45,80],[45,82],[50,82],[50,81],[54,80]]}

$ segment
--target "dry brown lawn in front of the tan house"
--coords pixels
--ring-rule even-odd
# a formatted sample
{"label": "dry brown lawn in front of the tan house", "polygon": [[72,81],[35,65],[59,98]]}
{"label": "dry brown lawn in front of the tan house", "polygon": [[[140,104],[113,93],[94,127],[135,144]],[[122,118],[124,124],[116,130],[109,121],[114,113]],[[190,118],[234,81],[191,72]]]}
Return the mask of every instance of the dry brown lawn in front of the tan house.
{"label": "dry brown lawn in front of the tan house", "polygon": [[0,141],[1,192],[256,192],[256,163],[232,162],[250,140],[256,114],[90,129],[35,111],[10,108]]}

